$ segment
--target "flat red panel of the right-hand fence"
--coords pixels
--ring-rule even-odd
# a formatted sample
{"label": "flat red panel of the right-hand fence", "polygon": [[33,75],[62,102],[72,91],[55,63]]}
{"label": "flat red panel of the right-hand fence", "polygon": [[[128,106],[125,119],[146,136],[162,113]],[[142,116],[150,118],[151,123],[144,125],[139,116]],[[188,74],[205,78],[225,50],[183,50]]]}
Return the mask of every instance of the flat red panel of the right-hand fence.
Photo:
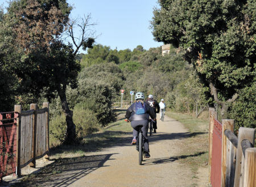
{"label": "flat red panel of the right-hand fence", "polygon": [[214,119],[212,135],[212,164],[210,182],[213,187],[221,186],[222,124]]}

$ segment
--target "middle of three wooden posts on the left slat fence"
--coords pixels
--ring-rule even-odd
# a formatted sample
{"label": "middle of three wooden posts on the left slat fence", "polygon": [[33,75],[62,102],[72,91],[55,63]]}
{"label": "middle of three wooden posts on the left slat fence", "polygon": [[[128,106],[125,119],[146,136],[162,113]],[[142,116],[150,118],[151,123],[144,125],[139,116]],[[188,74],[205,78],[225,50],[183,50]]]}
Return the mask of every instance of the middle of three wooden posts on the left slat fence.
{"label": "middle of three wooden posts on the left slat fence", "polygon": [[30,163],[30,167],[36,167],[36,126],[37,126],[37,112],[38,112],[38,104],[30,104],[30,109],[34,110],[33,114],[33,130],[32,130],[32,161]]}

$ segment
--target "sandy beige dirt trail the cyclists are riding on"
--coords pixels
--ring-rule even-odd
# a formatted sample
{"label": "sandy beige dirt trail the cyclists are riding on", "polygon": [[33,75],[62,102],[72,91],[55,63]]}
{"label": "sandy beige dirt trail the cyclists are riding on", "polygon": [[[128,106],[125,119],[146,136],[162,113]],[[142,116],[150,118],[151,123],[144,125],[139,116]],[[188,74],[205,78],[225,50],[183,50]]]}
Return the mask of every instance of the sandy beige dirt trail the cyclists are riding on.
{"label": "sandy beige dirt trail the cyclists are riding on", "polygon": [[[101,151],[48,163],[31,181],[16,186],[207,186],[205,168],[200,169],[198,179],[192,179],[191,169],[179,162],[187,158],[180,147],[187,146],[188,135],[180,122],[165,116],[164,122],[158,120],[157,133],[148,137],[151,157],[143,165],[138,164],[138,151],[130,145],[131,133],[127,133]],[[33,172],[26,168],[23,175]]]}

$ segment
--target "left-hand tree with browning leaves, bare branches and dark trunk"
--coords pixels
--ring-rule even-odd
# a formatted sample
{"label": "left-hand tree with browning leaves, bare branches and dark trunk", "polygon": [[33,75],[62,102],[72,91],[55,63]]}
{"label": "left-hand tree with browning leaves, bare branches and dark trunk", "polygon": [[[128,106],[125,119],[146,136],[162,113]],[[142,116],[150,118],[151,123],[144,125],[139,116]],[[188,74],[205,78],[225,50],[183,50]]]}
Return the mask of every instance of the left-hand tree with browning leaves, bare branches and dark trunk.
{"label": "left-hand tree with browning leaves, bare branches and dark trunk", "polygon": [[[75,55],[80,47],[86,49],[94,42],[84,35],[89,18],[80,24],[82,36],[79,41],[70,35],[75,41],[75,50],[61,40],[65,28],[72,33],[75,22],[68,22],[71,9],[65,0],[20,0],[12,2],[8,8],[14,20],[16,44],[24,51],[16,72],[32,93],[43,93],[48,99],[56,96],[54,92],[60,96],[67,122],[65,143],[73,143],[76,139],[73,112],[66,97],[68,85],[77,87],[80,64],[75,61]],[[20,72],[20,69],[27,71]]]}

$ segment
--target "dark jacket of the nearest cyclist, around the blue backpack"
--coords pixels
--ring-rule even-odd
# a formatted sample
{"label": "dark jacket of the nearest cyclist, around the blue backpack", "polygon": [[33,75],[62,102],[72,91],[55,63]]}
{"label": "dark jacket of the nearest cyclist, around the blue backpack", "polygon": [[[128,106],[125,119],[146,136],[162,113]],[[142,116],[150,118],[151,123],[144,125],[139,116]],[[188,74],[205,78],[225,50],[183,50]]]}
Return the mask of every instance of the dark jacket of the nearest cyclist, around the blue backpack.
{"label": "dark jacket of the nearest cyclist, around the blue backpack", "polygon": [[145,113],[144,114],[136,114],[135,104],[136,103],[133,103],[127,109],[126,114],[125,114],[125,118],[129,119],[130,121],[149,120],[149,116],[152,119],[156,118],[156,114],[155,114],[153,108],[151,108],[150,105],[148,105],[147,103],[144,103]]}

